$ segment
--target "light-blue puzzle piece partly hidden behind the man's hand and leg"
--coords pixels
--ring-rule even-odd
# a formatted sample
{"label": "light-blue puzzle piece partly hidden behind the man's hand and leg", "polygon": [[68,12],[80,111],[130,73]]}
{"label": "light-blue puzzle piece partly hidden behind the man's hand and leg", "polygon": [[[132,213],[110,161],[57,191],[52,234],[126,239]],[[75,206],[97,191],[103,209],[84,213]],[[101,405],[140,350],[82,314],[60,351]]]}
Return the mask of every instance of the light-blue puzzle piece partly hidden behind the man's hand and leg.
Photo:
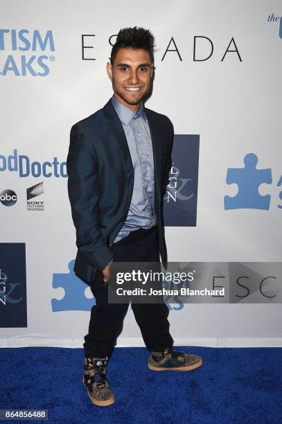
{"label": "light-blue puzzle piece partly hidden behind the man's hand and leg", "polygon": [[80,280],[73,272],[74,260],[69,263],[69,274],[53,274],[53,288],[63,288],[64,297],[60,300],[52,299],[53,312],[62,310],[91,310],[95,305],[94,297],[87,299],[85,289],[87,283]]}

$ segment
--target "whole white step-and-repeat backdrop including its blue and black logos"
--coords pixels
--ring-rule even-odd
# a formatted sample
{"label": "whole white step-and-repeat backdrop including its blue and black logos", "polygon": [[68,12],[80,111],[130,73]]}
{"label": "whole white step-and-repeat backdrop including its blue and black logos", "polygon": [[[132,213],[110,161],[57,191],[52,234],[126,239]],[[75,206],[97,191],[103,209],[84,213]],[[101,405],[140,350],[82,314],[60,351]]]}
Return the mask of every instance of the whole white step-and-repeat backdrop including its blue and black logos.
{"label": "whole white step-and-repeat backdrop including its blue and black logos", "polygon": [[[112,96],[111,45],[135,25],[155,35],[146,106],[175,127],[168,258],[220,263],[211,283],[238,289],[168,303],[175,344],[282,345],[281,275],[267,268],[282,251],[281,16],[263,0],[1,1],[1,346],[82,346],[94,299],[73,274],[69,132]],[[265,268],[250,278],[252,263]],[[132,310],[118,344],[143,346]]]}

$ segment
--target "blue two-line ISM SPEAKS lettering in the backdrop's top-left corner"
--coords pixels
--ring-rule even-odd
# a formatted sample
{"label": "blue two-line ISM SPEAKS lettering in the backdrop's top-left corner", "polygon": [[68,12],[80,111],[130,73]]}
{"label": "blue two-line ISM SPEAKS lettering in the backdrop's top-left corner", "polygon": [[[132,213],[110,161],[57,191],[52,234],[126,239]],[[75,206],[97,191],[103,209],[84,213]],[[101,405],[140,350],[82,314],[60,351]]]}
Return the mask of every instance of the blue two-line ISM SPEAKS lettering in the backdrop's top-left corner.
{"label": "blue two-line ISM SPEAKS lettering in the backdrop's top-left corner", "polygon": [[[1,76],[47,76],[49,75],[49,63],[54,62],[54,55],[25,55],[13,53],[55,51],[53,33],[47,30],[40,33],[39,30],[27,29],[15,30],[0,28],[0,52],[8,51],[10,54],[1,60]],[[12,53],[12,54],[11,54]]]}

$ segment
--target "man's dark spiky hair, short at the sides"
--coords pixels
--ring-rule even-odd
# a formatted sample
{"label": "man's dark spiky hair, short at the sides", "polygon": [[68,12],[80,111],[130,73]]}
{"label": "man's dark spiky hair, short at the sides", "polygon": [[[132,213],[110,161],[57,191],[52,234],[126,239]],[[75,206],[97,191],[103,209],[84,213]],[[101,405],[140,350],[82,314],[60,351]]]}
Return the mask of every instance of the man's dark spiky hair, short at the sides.
{"label": "man's dark spiky hair, short at the sides", "polygon": [[143,48],[150,54],[150,59],[154,62],[154,36],[149,30],[144,28],[123,28],[118,31],[116,42],[112,48],[111,53],[111,64],[114,63],[114,59],[118,53],[119,48]]}

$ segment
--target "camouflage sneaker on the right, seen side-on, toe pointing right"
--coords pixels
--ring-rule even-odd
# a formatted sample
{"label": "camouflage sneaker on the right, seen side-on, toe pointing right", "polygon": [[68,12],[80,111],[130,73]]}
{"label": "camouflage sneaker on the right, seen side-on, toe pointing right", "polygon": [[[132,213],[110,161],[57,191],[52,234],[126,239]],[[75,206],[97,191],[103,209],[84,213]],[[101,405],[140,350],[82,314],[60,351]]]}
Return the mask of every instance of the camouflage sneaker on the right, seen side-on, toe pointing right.
{"label": "camouflage sneaker on the right, seen side-on, toe pointing right", "polygon": [[200,356],[175,352],[173,348],[167,348],[162,352],[151,352],[148,361],[148,368],[153,371],[192,371],[201,365]]}

